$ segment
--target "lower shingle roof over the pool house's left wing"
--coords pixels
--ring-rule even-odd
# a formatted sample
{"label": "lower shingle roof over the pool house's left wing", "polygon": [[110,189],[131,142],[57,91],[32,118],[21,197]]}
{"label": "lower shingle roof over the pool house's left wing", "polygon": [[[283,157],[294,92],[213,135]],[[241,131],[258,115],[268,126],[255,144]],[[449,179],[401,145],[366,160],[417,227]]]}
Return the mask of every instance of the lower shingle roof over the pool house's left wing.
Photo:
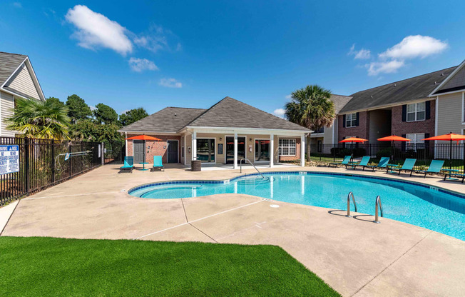
{"label": "lower shingle roof over the pool house's left wing", "polygon": [[165,131],[177,132],[205,109],[185,109],[183,107],[166,107],[135,123],[121,128],[121,131]]}

